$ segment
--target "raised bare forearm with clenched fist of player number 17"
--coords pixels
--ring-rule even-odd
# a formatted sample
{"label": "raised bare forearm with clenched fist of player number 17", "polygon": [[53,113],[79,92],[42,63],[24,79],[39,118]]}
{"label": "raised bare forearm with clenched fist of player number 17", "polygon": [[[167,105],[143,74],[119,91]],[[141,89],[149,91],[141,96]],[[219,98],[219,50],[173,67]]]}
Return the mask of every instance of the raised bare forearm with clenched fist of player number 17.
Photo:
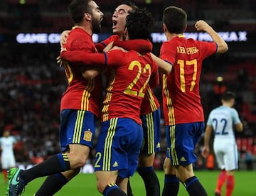
{"label": "raised bare forearm with clenched fist of player number 17", "polygon": [[214,29],[208,23],[206,23],[206,21],[197,21],[195,28],[197,31],[206,31],[206,33],[210,35],[210,37],[213,39],[213,42],[218,45],[217,53],[225,53],[228,51],[228,44],[225,42],[225,40],[223,40],[223,38],[220,37],[216,31],[214,31]]}

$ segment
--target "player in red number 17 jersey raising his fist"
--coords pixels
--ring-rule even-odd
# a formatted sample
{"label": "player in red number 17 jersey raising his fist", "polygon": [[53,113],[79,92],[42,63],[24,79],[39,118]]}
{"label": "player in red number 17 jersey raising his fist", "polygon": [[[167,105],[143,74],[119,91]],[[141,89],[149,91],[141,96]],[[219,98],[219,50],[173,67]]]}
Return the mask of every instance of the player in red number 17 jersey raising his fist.
{"label": "player in red number 17 jersey raising his fist", "polygon": [[160,58],[173,69],[163,75],[163,109],[167,151],[164,160],[163,196],[177,195],[179,181],[189,195],[207,195],[193,173],[193,150],[204,130],[204,114],[199,94],[202,62],[214,53],[225,53],[228,45],[205,21],[197,21],[197,31],[206,31],[213,42],[185,38],[187,15],[183,9],[167,7],[163,14],[167,41],[161,45]]}

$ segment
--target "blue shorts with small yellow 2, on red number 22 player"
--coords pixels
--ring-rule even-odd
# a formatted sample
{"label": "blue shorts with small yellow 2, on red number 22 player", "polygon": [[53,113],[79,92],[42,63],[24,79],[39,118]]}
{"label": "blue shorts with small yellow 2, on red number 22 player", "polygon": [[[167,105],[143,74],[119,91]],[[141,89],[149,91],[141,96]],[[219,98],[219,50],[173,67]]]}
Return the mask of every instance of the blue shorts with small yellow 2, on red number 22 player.
{"label": "blue shorts with small yellow 2, on red number 22 player", "polygon": [[134,175],[142,138],[142,126],[132,119],[114,118],[103,122],[97,139],[95,171],[118,170],[122,178]]}

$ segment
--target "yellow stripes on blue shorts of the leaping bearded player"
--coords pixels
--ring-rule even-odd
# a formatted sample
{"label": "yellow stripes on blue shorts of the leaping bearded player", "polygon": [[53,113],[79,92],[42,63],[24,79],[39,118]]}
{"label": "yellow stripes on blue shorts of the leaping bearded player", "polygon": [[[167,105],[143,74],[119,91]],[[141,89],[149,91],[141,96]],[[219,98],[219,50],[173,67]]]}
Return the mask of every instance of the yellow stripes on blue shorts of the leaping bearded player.
{"label": "yellow stripes on blue shorts of the leaping bearded player", "polygon": [[82,122],[85,116],[85,110],[78,110],[77,119],[75,120],[75,128],[73,134],[73,143],[80,143],[82,134]]}

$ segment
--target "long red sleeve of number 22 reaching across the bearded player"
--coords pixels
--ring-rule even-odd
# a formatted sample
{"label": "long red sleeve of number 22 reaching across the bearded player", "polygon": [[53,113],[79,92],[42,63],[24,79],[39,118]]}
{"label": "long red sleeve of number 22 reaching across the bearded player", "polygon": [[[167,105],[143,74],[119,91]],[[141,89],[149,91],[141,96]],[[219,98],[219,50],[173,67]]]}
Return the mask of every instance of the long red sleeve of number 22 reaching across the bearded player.
{"label": "long red sleeve of number 22 reaching across the bearded player", "polygon": [[107,64],[105,53],[87,53],[80,50],[63,51],[60,53],[60,58],[68,62],[97,67],[104,67]]}

